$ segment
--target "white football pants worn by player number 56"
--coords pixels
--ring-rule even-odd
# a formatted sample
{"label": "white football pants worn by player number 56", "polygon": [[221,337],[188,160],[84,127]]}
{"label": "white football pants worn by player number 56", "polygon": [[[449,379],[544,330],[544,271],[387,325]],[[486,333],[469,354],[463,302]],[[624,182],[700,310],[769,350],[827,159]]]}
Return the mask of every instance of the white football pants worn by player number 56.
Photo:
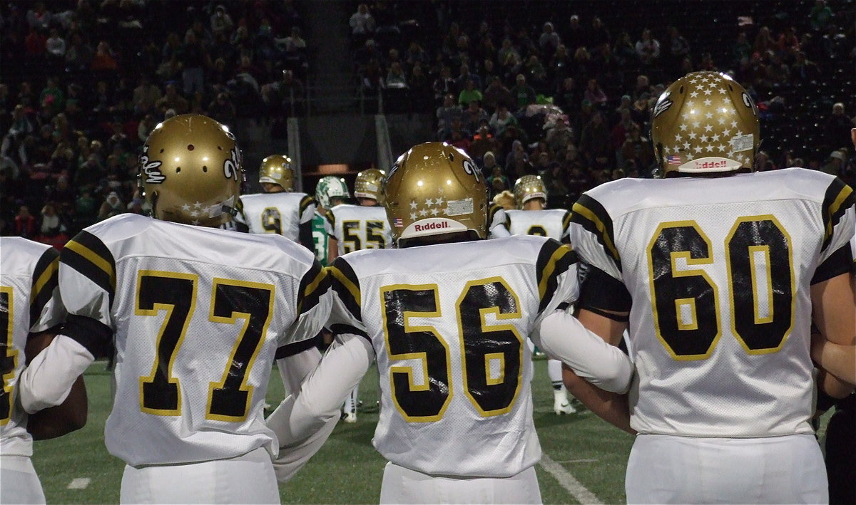
{"label": "white football pants worn by player number 56", "polygon": [[381,503],[540,503],[535,467],[506,478],[439,477],[399,467],[383,469]]}

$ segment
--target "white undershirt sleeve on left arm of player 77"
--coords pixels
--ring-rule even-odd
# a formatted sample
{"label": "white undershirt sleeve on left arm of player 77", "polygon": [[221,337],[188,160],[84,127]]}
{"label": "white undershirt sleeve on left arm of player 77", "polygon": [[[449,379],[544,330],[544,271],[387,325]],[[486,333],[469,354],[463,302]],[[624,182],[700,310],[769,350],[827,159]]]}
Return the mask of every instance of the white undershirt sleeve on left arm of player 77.
{"label": "white undershirt sleeve on left arm of player 77", "polygon": [[57,335],[18,379],[21,405],[27,414],[64,402],[74,380],[86,372],[92,361],[95,358],[85,347],[72,338]]}

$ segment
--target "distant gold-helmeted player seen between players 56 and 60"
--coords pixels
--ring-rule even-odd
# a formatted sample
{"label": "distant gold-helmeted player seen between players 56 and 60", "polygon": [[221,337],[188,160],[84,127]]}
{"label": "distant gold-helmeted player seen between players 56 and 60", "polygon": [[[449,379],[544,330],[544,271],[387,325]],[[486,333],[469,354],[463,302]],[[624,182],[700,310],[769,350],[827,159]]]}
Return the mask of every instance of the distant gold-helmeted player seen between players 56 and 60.
{"label": "distant gold-helmeted player seen between players 56 and 60", "polygon": [[[547,189],[538,175],[524,175],[514,183],[516,209],[505,211],[505,226],[511,235],[539,235],[568,244],[571,213],[564,208],[547,207]],[[547,360],[547,375],[553,386],[553,412],[574,414],[577,409],[568,400],[562,384],[562,361]]]}

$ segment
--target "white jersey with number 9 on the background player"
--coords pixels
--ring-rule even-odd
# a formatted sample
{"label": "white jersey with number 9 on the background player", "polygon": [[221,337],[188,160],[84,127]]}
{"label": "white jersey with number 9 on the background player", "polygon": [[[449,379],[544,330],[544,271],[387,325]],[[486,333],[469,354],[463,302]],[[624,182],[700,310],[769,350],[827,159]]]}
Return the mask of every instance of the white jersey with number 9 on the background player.
{"label": "white jersey with number 9 on the background player", "polygon": [[[315,200],[306,193],[256,193],[241,195],[235,220],[250,233],[276,233],[300,242],[300,225],[312,221]],[[306,244],[307,246],[311,244]]]}

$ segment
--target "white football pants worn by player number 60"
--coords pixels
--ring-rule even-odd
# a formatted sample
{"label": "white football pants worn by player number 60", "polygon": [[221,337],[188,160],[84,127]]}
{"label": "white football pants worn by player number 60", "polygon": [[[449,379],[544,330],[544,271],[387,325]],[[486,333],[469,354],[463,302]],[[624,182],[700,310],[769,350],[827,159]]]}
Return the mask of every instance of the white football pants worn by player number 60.
{"label": "white football pants worn by player number 60", "polygon": [[627,503],[829,503],[814,435],[702,438],[639,435]]}

